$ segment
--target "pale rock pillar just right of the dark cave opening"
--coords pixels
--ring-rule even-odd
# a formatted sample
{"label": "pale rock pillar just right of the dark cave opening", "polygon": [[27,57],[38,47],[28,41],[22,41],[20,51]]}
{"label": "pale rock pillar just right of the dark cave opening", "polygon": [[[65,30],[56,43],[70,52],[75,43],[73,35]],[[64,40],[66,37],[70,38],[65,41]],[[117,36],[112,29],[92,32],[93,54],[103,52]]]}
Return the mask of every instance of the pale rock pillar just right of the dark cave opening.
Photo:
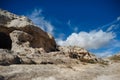
{"label": "pale rock pillar just right of the dark cave opening", "polygon": [[17,30],[11,32],[10,37],[12,40],[12,51],[15,52],[25,52],[25,49],[30,48],[30,41],[33,40],[30,34]]}

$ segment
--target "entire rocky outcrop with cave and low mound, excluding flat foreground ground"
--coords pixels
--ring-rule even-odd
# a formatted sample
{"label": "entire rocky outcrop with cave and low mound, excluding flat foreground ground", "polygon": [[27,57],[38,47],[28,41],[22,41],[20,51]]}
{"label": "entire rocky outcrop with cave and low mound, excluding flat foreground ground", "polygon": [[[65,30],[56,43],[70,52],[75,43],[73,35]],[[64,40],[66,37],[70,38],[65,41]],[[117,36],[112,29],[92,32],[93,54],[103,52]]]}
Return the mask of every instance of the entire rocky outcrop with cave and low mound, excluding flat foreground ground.
{"label": "entire rocky outcrop with cave and low mound, excluding flat foreground ground", "polygon": [[87,50],[57,47],[54,38],[24,16],[0,9],[0,64],[74,64],[97,62]]}

